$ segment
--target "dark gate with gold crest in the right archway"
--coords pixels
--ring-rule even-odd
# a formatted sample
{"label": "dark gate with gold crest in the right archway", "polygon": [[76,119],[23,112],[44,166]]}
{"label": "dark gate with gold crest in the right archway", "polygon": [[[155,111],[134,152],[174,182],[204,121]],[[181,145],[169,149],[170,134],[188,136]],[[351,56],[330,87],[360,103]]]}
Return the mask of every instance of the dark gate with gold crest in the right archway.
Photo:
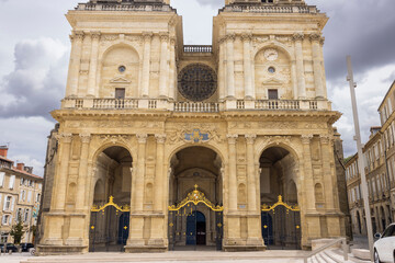
{"label": "dark gate with gold crest in the right archway", "polygon": [[261,224],[264,244],[279,249],[301,249],[301,209],[279,196],[274,205],[262,205]]}

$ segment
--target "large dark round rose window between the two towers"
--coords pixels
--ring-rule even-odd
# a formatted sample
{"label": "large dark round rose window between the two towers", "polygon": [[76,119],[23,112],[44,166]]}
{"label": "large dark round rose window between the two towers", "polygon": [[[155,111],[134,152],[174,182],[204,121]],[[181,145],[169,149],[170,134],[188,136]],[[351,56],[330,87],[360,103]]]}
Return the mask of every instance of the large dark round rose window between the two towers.
{"label": "large dark round rose window between the two towers", "polygon": [[193,64],[179,75],[179,91],[188,100],[204,101],[216,91],[216,73],[208,66]]}

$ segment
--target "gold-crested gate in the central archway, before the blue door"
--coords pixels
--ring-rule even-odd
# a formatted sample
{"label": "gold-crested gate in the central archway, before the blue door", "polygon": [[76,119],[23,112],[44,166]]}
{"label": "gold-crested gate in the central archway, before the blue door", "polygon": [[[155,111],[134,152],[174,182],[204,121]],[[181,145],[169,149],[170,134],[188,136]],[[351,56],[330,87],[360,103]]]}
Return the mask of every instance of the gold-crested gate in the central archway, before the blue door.
{"label": "gold-crested gate in the central archway, before the blue door", "polygon": [[[208,207],[211,210],[215,211],[215,231],[216,231],[216,249],[222,250],[222,240],[223,240],[223,211],[224,207],[221,205],[214,205],[212,202],[210,202],[204,193],[200,192],[198,190],[198,185],[194,186],[195,190],[192,191],[187,195],[187,197],[181,201],[177,205],[169,206],[169,250],[174,250],[174,245],[178,239],[181,239],[181,236],[192,236],[198,237],[196,228],[195,232],[180,232],[177,231],[177,219],[182,217],[191,217],[193,216],[196,220],[196,214],[199,213],[196,210],[196,206],[199,204],[204,204],[206,207]],[[181,220],[182,221],[182,220]],[[196,222],[195,222],[196,224]],[[196,244],[196,243],[195,243]]]}

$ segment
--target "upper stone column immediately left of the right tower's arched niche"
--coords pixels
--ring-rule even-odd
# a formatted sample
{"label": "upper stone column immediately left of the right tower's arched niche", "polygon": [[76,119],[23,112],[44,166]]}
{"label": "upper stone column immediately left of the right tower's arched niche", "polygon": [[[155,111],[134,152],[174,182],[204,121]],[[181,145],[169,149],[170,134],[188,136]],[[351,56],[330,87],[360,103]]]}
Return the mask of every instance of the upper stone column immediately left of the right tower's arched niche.
{"label": "upper stone column immediately left of the right tower's arched niche", "polygon": [[241,36],[244,45],[244,84],[246,100],[253,100],[256,95],[252,85],[251,37],[250,34],[244,34]]}

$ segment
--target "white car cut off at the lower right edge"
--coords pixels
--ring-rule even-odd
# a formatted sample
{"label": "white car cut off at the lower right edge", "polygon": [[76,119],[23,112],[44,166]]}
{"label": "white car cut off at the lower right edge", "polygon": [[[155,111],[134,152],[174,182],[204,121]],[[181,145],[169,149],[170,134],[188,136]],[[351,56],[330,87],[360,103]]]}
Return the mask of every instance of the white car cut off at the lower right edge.
{"label": "white car cut off at the lower right edge", "polygon": [[395,262],[395,222],[383,232],[374,235],[379,240],[374,242],[374,263]]}

